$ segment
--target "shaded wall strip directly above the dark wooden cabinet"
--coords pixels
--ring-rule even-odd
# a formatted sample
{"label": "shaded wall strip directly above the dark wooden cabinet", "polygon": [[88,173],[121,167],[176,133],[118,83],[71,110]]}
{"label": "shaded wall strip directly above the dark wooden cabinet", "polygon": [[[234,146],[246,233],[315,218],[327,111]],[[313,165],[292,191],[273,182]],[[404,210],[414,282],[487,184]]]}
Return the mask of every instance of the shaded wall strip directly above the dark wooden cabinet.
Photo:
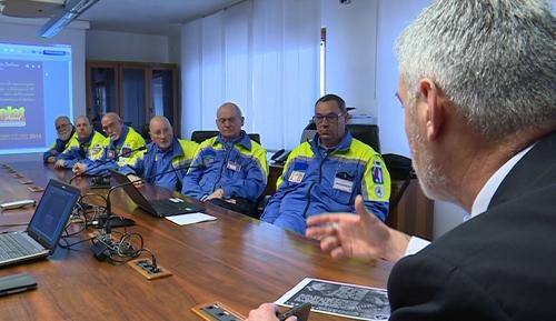
{"label": "shaded wall strip directly above the dark wooden cabinet", "polygon": [[168,36],[87,31],[87,59],[169,62]]}

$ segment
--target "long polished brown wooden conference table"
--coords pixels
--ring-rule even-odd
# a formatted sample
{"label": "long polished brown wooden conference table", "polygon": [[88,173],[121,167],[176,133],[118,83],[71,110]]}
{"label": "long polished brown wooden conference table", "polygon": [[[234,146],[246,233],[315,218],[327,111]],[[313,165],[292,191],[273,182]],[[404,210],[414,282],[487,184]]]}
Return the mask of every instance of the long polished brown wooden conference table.
{"label": "long polished brown wooden conference table", "polygon": [[[49,179],[68,181],[71,177],[70,171],[41,162],[7,164],[42,187]],[[107,192],[90,190],[87,179],[73,184],[82,193]],[[171,194],[155,187],[145,190],[152,199]],[[41,194],[30,192],[28,185],[0,169],[0,201],[38,201]],[[180,227],[148,215],[121,189],[115,190],[111,199],[115,213],[137,222],[128,231],[140,233],[158,264],[172,275],[148,281],[127,264],[98,261],[89,250],[90,242],[71,251],[58,248],[48,260],[0,268],[0,277],[28,272],[39,285],[0,298],[0,320],[200,320],[190,309],[214,301],[247,315],[306,277],[384,288],[391,269],[383,261],[332,260],[302,237],[212,205],[206,212],[218,220]],[[28,222],[32,211],[1,212],[0,232],[23,230],[3,225]],[[82,232],[73,241],[86,238]],[[345,319],[311,313],[310,320]]]}

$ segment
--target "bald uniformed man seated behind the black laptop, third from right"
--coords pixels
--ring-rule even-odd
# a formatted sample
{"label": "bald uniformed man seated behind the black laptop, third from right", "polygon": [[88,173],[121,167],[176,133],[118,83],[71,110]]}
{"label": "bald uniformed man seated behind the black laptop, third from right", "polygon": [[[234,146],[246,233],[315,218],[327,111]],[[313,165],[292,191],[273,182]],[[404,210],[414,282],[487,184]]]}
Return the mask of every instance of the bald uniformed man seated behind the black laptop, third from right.
{"label": "bald uniformed man seated behind the black laptop, third from right", "polygon": [[[149,134],[152,142],[147,146],[147,152],[141,153],[135,163],[125,165],[120,171],[131,181],[143,178],[145,181],[139,180],[137,187],[148,182],[181,191],[186,167],[191,163],[198,144],[176,138],[170,121],[163,116],[155,116],[150,120]],[[183,169],[177,170],[179,168]]]}

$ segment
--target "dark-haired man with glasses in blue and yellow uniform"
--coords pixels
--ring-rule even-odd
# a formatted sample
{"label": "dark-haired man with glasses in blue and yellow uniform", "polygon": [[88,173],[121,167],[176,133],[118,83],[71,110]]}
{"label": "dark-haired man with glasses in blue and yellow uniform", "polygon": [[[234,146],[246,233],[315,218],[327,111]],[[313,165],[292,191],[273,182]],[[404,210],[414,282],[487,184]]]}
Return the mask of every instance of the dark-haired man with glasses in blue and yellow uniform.
{"label": "dark-haired man with glasses in blue and yellow uniform", "polygon": [[351,137],[348,118],[340,97],[327,94],[317,100],[317,134],[288,157],[262,221],[304,234],[311,215],[355,212],[358,194],[369,211],[386,220],[390,177],[381,156]]}

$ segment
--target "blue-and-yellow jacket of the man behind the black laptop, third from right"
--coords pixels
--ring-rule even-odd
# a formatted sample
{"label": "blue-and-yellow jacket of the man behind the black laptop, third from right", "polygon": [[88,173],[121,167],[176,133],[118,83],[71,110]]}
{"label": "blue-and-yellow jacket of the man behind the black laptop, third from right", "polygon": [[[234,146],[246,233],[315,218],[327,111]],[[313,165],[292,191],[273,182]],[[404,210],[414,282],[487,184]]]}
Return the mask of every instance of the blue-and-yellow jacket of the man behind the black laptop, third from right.
{"label": "blue-and-yellow jacket of the man behind the black laptop, third from right", "polygon": [[[173,138],[172,144],[162,151],[153,142],[147,146],[147,151],[141,154],[135,164],[127,164],[120,169],[125,174],[137,174],[145,178],[148,183],[170,190],[181,190],[183,175],[195,157],[198,144],[193,141]],[[157,175],[158,173],[183,168],[175,172]]]}

